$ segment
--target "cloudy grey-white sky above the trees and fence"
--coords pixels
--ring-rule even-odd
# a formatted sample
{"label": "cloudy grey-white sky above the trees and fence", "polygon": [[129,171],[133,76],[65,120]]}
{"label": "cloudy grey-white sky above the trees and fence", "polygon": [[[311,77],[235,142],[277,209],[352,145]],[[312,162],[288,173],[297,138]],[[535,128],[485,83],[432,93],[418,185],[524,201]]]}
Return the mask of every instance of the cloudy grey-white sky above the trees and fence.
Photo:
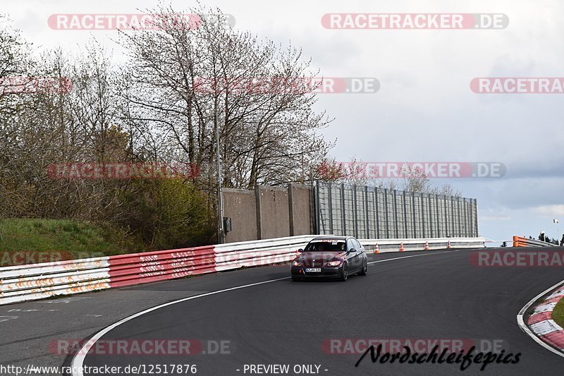
{"label": "cloudy grey-white sky above the trees and fence", "polygon": [[[52,30],[54,13],[135,13],[157,0],[0,0],[0,13],[36,47],[78,51],[94,35],[116,48],[115,31]],[[195,1],[171,1],[178,10]],[[324,131],[331,155],[366,162],[501,162],[503,178],[450,178],[477,198],[479,232],[564,231],[564,94],[477,94],[476,77],[564,77],[564,5],[540,1],[202,1],[283,45],[292,42],[328,77],[373,77],[376,93],[321,94],[335,118]],[[503,13],[509,25],[485,30],[329,30],[325,13]],[[437,184],[442,181],[436,181]],[[559,238],[562,236],[560,232]]]}

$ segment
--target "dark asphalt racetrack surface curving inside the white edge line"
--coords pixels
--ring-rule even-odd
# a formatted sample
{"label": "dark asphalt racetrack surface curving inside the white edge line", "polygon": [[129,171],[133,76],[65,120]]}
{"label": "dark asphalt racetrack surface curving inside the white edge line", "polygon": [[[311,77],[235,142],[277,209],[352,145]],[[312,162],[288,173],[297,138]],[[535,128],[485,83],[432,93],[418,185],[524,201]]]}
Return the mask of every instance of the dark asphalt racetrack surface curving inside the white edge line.
{"label": "dark asphalt racetrack surface curving inside the white edge line", "polygon": [[[473,252],[371,255],[368,275],[352,276],[345,283],[292,282],[288,266],[238,271],[228,283],[215,284],[215,289],[204,288],[207,281],[216,281],[214,276],[163,282],[158,284],[161,290],[207,293],[171,301],[113,327],[97,340],[106,347],[85,356],[83,365],[122,370],[139,366],[140,374],[157,372],[160,365],[161,374],[166,370],[168,375],[194,371],[221,376],[561,375],[564,358],[522,332],[516,315],[534,296],[564,279],[563,269],[476,267],[470,262]],[[257,284],[261,281],[266,283]],[[136,290],[151,290],[154,285],[136,286]],[[228,290],[213,293],[221,289]],[[190,355],[187,348],[172,348],[159,356],[103,354],[114,340],[128,340],[130,345],[149,339],[153,344],[165,341],[166,346],[190,339]],[[503,348],[504,355],[512,353],[515,359],[520,353],[520,357],[515,364],[492,363],[480,371],[481,364],[461,370],[460,363],[372,363],[368,354],[355,367],[366,348],[363,339],[387,346],[415,345],[419,340],[419,348],[426,352],[442,340],[446,346],[463,344],[465,349],[474,344],[484,353],[491,349],[499,353]],[[66,363],[71,363],[71,357]],[[171,365],[195,365],[195,369],[183,366],[177,372]],[[269,365],[288,365],[288,372],[266,368]]]}

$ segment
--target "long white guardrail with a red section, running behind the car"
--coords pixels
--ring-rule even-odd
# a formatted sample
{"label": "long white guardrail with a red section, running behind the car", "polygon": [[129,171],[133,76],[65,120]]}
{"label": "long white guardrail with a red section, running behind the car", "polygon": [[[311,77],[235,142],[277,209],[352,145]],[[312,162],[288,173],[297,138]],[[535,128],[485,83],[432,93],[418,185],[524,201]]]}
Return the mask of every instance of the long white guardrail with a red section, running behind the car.
{"label": "long white guardrail with a red section, running behind the car", "polygon": [[[69,295],[114,287],[146,284],[197,274],[222,272],[240,267],[274,265],[290,262],[299,248],[314,235],[244,241],[221,245],[159,250],[95,257],[84,260],[45,262],[0,268],[0,305],[32,301],[50,296]],[[367,239],[360,242],[367,248],[379,243],[383,252],[405,250],[477,248],[484,246],[484,238],[437,239]]]}

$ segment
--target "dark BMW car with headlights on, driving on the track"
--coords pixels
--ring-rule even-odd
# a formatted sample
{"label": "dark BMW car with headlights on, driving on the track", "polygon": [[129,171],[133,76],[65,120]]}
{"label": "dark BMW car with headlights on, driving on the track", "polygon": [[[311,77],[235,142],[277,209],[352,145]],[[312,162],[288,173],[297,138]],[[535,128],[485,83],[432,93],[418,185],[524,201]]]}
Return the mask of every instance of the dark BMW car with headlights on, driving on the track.
{"label": "dark BMW car with headlights on, driving on the track", "polygon": [[312,239],[292,261],[293,281],[306,278],[338,278],[346,281],[350,274],[366,275],[367,255],[352,236],[320,236]]}

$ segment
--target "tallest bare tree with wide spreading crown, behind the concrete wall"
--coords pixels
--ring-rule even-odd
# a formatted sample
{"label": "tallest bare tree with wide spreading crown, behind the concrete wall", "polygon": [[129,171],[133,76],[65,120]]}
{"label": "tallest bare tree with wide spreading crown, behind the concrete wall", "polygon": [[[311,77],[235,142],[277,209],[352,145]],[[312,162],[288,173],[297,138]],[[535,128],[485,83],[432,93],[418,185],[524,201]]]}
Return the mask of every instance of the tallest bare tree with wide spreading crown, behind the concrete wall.
{"label": "tallest bare tree with wide spreading crown, behind the concrete wall", "polygon": [[329,119],[312,109],[314,93],[286,85],[312,75],[301,52],[226,28],[219,10],[191,9],[197,28],[185,12],[150,12],[161,30],[124,33],[121,42],[130,53],[128,122],[155,135],[164,154],[199,165],[210,192],[218,152],[223,186],[305,181],[331,145],[317,135]]}

